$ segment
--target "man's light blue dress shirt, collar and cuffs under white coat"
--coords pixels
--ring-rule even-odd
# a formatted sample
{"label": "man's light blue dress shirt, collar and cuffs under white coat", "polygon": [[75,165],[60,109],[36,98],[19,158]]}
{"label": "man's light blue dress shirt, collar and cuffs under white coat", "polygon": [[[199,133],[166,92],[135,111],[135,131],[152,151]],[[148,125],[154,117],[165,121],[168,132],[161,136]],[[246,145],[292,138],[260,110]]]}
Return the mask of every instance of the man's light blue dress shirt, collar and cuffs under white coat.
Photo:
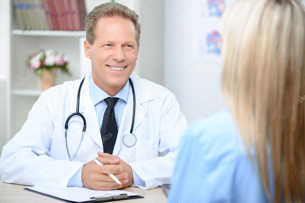
{"label": "man's light blue dress shirt, collar and cuffs under white coat", "polygon": [[[90,98],[92,100],[92,103],[95,108],[96,115],[99,120],[99,129],[102,128],[102,122],[105,110],[107,108],[107,104],[104,101],[105,98],[111,97],[109,96],[105,91],[103,91],[101,88],[99,88],[93,81],[92,75],[90,74],[89,79],[89,91],[90,91]],[[113,97],[119,98],[117,101],[117,104],[114,106],[114,114],[117,121],[117,127],[119,129],[120,123],[122,120],[122,115],[124,112],[125,105],[128,101],[128,95],[129,95],[129,81],[125,84],[125,86]],[[78,186],[82,187],[82,180],[81,180],[81,170],[80,168],[70,179],[67,184],[68,187],[70,186]],[[140,185],[144,181],[138,176],[138,174],[135,173],[134,170],[132,170],[134,184],[133,185]],[[145,182],[144,182],[145,183]]]}

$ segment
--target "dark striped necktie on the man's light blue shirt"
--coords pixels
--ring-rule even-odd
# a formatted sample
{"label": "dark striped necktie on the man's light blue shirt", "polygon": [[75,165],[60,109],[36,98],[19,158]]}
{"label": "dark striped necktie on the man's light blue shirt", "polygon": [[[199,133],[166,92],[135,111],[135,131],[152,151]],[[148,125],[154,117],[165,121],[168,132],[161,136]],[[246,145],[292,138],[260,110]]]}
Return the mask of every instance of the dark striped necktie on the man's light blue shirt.
{"label": "dark striped necktie on the man's light blue shirt", "polygon": [[107,104],[101,128],[104,153],[112,154],[115,142],[117,140],[118,129],[114,114],[114,106],[118,100],[119,98],[116,97],[108,97],[104,99]]}

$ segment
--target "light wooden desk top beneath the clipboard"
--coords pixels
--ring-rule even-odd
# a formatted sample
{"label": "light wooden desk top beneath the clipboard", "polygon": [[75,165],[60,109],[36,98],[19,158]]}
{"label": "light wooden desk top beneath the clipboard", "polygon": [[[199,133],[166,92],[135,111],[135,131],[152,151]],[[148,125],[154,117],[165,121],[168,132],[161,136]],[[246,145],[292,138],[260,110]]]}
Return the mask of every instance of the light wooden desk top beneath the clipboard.
{"label": "light wooden desk top beneath the clipboard", "polygon": [[[49,203],[49,202],[58,202],[63,203],[64,201],[59,201],[47,196],[37,194],[34,192],[23,190],[24,185],[18,184],[9,184],[4,183],[0,180],[0,203]],[[125,203],[166,203],[167,196],[162,190],[161,187],[154,188],[151,190],[141,190],[138,187],[129,187],[123,189],[124,191],[141,193],[144,198],[132,199],[132,200],[121,200],[114,201],[116,203],[125,202]]]}

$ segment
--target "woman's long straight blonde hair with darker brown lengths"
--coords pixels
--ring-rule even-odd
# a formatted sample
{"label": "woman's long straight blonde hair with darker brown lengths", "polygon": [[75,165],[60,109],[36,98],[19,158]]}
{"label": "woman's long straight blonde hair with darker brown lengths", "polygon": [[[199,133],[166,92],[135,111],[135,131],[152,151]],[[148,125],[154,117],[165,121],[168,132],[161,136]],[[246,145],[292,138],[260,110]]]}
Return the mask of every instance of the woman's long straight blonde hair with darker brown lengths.
{"label": "woman's long straight blonde hair with darker brown lengths", "polygon": [[262,135],[253,146],[274,202],[305,201],[304,33],[299,0],[238,0],[222,20],[223,94],[244,141]]}

